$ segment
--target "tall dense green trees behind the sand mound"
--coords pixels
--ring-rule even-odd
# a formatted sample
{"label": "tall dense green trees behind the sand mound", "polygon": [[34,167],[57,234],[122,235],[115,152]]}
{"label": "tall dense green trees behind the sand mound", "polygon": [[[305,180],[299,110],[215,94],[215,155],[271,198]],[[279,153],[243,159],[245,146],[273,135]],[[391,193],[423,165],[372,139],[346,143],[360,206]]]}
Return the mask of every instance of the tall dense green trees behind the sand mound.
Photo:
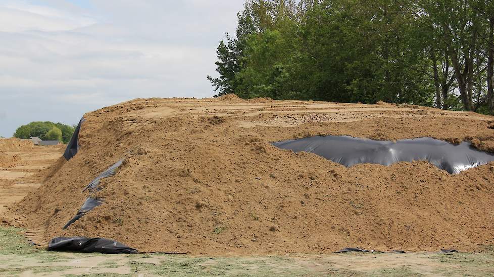
{"label": "tall dense green trees behind the sand mound", "polygon": [[218,46],[218,95],[492,114],[492,0],[249,0]]}

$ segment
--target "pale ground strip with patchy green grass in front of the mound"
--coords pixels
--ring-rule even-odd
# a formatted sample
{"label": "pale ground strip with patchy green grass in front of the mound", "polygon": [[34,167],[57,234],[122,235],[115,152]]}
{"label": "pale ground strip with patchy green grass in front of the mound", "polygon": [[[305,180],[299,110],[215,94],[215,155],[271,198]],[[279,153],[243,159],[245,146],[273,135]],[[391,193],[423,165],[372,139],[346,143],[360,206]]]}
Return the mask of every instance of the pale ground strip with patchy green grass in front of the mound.
{"label": "pale ground strip with patchy green grass in front of the mound", "polygon": [[0,227],[2,276],[492,276],[494,252],[191,256],[51,252]]}

